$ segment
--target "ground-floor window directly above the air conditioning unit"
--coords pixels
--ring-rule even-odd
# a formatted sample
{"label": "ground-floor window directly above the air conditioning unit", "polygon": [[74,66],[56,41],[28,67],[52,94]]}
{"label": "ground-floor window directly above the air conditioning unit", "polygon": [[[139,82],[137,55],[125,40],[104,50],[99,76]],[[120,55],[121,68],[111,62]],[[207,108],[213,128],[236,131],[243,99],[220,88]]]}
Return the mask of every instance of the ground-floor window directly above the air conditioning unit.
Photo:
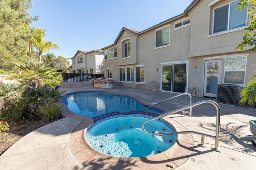
{"label": "ground-floor window directly above the air conditioning unit", "polygon": [[225,58],[224,83],[244,85],[246,57]]}

